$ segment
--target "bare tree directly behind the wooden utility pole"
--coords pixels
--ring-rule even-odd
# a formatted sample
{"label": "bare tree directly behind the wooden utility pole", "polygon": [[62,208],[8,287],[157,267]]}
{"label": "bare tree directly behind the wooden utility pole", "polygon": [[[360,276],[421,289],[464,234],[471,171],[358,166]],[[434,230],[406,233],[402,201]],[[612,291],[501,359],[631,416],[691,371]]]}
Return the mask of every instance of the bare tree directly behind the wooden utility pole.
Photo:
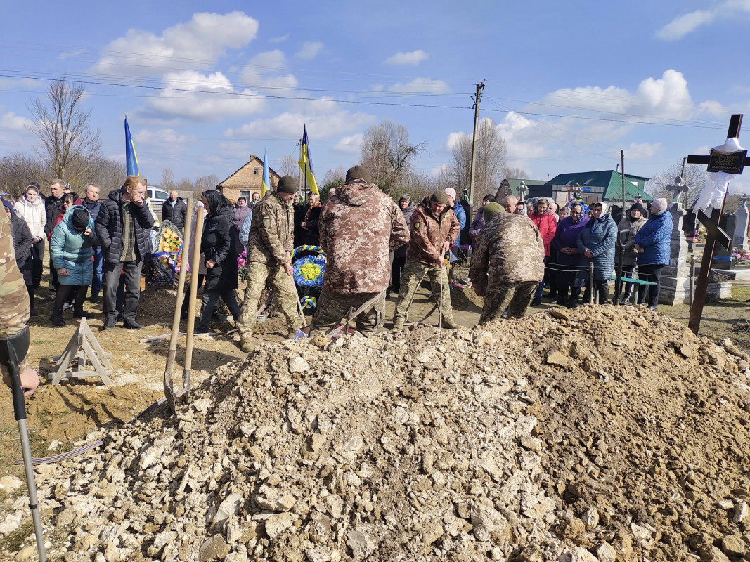
{"label": "bare tree directly behind the wooden utility pole", "polygon": [[[461,136],[452,148],[448,171],[449,187],[460,193],[469,187],[471,178],[472,138]],[[483,118],[476,134],[475,193],[494,193],[508,164],[508,143],[497,131],[494,121]]]}

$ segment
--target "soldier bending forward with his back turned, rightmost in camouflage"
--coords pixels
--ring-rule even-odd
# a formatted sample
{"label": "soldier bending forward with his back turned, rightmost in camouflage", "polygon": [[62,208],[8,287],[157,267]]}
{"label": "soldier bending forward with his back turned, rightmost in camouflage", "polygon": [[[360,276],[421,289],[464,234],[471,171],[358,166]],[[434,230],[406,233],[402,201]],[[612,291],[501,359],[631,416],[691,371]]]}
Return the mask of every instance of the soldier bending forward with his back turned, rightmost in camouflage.
{"label": "soldier bending forward with his back turned, rightmost in camouflage", "polygon": [[499,319],[506,307],[508,318],[523,317],[544,277],[544,241],[535,224],[490,205],[469,266],[474,291],[484,297],[479,324]]}

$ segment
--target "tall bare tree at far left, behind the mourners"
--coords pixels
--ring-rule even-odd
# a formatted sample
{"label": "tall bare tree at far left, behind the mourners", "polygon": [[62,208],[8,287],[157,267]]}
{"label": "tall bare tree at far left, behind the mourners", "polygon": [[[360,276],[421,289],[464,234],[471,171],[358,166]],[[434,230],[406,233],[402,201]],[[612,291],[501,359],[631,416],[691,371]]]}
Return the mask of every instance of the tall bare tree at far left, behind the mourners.
{"label": "tall bare tree at far left, behind the mourners", "polygon": [[63,76],[49,83],[45,97],[37,96],[28,106],[34,118],[28,130],[41,141],[37,154],[53,176],[74,182],[101,158],[99,130],[91,127],[91,111],[81,107],[83,94],[83,85]]}

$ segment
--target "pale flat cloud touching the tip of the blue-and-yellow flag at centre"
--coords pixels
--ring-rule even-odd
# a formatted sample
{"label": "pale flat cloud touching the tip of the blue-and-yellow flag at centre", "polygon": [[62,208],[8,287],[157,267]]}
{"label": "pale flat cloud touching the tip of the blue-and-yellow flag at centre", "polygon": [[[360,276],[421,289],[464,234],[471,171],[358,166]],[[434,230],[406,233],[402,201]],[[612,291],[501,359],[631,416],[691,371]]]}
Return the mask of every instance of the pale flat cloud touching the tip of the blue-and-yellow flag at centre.
{"label": "pale flat cloud touching the tip of the blue-and-yellow flag at centre", "polygon": [[[256,136],[260,138],[297,139],[307,124],[311,139],[327,139],[344,135],[376,121],[375,115],[341,109],[333,100],[323,99],[299,103],[293,111],[272,118],[257,119],[237,129],[227,129],[224,136]],[[311,140],[314,144],[314,140]]]}

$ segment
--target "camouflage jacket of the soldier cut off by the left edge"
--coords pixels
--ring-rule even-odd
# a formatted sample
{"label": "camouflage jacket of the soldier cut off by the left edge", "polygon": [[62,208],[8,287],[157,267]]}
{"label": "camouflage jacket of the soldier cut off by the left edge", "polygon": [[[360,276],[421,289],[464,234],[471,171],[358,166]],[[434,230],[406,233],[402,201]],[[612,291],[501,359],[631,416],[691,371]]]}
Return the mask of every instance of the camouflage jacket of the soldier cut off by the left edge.
{"label": "camouflage jacket of the soldier cut off by the left edge", "polygon": [[10,219],[0,213],[0,337],[14,336],[28,322],[31,306],[13,250]]}

